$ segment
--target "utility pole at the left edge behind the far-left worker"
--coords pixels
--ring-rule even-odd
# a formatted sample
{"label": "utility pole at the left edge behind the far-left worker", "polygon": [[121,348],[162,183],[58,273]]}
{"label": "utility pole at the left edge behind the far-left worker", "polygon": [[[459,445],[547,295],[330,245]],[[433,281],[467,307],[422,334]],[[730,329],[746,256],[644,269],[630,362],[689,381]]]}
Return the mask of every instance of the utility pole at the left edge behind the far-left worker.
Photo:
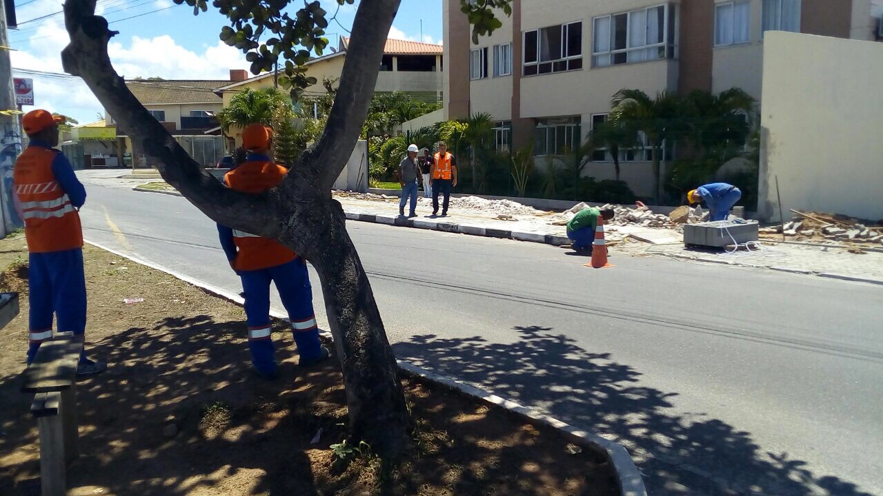
{"label": "utility pole at the left edge behind the far-left worker", "polygon": [[0,211],[3,214],[0,235],[3,237],[21,226],[12,197],[12,168],[21,154],[21,128],[6,30],[6,9],[0,5],[0,46],[3,47],[0,48]]}

